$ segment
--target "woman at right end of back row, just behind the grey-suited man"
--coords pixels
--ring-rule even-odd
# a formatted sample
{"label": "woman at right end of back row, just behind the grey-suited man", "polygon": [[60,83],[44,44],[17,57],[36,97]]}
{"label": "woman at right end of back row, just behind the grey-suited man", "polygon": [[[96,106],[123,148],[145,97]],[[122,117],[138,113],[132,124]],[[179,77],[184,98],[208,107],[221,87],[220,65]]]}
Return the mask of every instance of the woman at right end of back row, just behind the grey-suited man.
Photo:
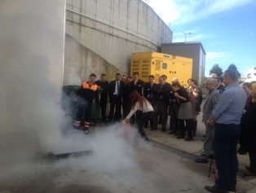
{"label": "woman at right end of back row, just behind the grey-suited man", "polygon": [[197,81],[194,78],[188,79],[188,97],[190,103],[192,104],[192,131],[193,137],[196,137],[196,127],[197,127],[197,116],[199,112],[201,112],[201,102],[202,102],[202,91],[201,88],[198,87]]}

